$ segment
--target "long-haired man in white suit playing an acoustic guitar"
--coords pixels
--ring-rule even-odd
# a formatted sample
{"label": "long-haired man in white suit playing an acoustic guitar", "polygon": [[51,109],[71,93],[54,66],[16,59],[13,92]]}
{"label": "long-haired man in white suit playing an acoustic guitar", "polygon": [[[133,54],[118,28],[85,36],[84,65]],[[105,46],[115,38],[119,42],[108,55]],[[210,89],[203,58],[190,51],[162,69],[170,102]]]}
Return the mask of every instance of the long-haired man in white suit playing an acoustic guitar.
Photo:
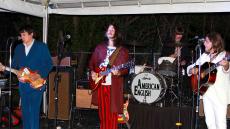
{"label": "long-haired man in white suit playing an acoustic guitar", "polygon": [[203,97],[205,121],[208,129],[227,129],[227,105],[230,103],[229,55],[219,33],[206,35],[205,52],[187,67],[192,89],[198,91],[198,65],[201,65],[200,93]]}

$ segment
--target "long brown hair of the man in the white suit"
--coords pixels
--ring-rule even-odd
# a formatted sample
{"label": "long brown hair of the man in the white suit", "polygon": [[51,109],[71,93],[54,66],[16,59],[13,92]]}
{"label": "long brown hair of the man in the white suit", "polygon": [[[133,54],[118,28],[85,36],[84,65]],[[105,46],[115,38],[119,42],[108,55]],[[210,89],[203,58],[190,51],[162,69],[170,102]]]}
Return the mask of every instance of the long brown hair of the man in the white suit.
{"label": "long brown hair of the man in the white suit", "polygon": [[207,37],[212,42],[212,48],[215,52],[220,53],[224,51],[224,40],[221,35],[217,32],[210,32]]}

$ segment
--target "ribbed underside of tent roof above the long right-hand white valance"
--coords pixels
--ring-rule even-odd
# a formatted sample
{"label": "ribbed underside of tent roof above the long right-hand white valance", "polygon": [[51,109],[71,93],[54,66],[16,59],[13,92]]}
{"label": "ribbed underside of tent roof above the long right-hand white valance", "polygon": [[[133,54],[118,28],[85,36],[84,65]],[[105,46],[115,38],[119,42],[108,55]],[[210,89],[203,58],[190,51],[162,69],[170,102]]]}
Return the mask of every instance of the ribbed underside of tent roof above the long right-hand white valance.
{"label": "ribbed underside of tent roof above the long right-hand white valance", "polygon": [[[36,0],[34,0],[36,1]],[[53,8],[87,8],[87,7],[113,7],[113,6],[144,6],[188,4],[188,3],[222,3],[230,0],[50,0]]]}

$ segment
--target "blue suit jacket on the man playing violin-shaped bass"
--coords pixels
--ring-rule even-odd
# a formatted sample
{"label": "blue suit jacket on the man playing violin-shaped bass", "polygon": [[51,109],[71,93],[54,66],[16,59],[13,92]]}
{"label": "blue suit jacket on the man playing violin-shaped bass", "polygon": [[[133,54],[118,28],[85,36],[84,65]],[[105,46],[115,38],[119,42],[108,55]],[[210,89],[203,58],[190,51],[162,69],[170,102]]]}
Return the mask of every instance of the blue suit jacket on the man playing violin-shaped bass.
{"label": "blue suit jacket on the man playing violin-shaped bass", "polygon": [[[52,69],[52,60],[47,45],[43,42],[34,41],[27,56],[25,46],[23,44],[17,45],[14,50],[12,68],[20,69],[22,67],[28,67],[32,71],[37,71],[42,78],[47,78]],[[19,88],[22,92],[35,91],[29,83],[19,82]]]}

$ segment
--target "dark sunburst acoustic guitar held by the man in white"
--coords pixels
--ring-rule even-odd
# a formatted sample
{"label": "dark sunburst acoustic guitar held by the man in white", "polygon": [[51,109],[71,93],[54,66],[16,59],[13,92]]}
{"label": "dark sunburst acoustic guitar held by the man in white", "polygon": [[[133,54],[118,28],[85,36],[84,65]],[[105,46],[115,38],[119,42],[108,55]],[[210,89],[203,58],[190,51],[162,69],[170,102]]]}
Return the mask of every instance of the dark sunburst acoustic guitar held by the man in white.
{"label": "dark sunburst acoustic guitar held by the man in white", "polygon": [[[227,56],[224,58],[224,60],[229,61],[230,56]],[[201,66],[201,72],[200,72],[200,94],[203,95],[209,88],[210,84],[214,84],[216,81],[216,73],[217,73],[217,67],[220,65],[219,62],[216,64],[211,62],[205,62]],[[196,66],[198,67],[198,66]],[[191,84],[192,84],[192,90],[193,92],[198,92],[198,75],[192,75],[191,76]]]}

